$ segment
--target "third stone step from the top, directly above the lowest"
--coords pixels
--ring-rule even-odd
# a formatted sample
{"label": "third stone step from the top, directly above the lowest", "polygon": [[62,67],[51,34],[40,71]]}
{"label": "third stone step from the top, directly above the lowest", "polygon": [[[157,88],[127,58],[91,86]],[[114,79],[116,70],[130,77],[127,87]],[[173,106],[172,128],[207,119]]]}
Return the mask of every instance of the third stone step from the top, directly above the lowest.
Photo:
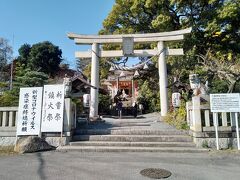
{"label": "third stone step from the top, directly above the lowest", "polygon": [[70,146],[121,146],[121,147],[195,147],[192,142],[113,142],[113,141],[76,141]]}

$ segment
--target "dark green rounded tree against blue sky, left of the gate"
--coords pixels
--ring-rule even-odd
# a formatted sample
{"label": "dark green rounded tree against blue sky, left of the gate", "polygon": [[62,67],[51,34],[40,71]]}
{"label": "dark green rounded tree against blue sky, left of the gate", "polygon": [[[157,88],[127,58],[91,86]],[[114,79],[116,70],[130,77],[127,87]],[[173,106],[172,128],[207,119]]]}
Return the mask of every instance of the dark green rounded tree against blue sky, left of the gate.
{"label": "dark green rounded tree against blue sky, left of the gate", "polygon": [[32,46],[24,44],[19,49],[18,61],[32,70],[54,76],[62,61],[62,51],[49,41]]}

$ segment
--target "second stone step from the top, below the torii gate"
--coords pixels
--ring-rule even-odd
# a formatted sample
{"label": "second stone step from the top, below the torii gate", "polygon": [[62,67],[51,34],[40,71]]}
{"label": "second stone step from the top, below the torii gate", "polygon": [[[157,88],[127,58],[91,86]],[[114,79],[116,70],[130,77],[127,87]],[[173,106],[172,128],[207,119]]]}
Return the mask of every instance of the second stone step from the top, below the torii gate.
{"label": "second stone step from the top, below the torii gate", "polygon": [[77,135],[73,141],[192,142],[184,135]]}

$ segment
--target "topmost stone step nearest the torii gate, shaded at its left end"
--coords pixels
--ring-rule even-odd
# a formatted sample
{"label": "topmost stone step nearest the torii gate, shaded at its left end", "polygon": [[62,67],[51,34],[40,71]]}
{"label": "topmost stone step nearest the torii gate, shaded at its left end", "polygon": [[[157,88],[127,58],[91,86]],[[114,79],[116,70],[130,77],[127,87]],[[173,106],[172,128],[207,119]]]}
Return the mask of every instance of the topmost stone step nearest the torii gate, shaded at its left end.
{"label": "topmost stone step nearest the torii gate, shaded at its left end", "polygon": [[146,129],[78,129],[75,135],[186,135],[180,130],[146,130]]}

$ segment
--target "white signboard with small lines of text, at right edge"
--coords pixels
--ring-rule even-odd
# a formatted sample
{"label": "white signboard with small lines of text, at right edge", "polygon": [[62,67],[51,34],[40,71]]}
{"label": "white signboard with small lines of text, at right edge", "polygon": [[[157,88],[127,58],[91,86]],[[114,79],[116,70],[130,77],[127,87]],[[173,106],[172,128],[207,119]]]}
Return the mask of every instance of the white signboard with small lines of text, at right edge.
{"label": "white signboard with small lines of text, at right edge", "polygon": [[240,94],[210,94],[211,112],[240,112]]}

